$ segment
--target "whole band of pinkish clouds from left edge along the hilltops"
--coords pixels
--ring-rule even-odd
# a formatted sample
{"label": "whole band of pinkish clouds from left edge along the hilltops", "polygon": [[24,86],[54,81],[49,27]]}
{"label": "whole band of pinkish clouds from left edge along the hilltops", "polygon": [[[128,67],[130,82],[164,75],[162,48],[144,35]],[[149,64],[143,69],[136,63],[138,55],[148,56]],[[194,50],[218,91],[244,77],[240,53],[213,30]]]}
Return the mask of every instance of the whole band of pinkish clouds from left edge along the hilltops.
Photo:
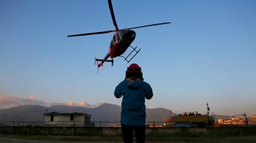
{"label": "whole band of pinkish clouds from left edge along the hilltops", "polygon": [[98,102],[97,104],[88,104],[86,101],[80,101],[78,103],[74,103],[72,101],[68,101],[67,103],[63,103],[63,102],[48,103],[45,101],[37,100],[34,95],[31,95],[28,97],[15,97],[15,96],[0,95],[0,109],[7,109],[10,107],[18,107],[21,105],[40,105],[43,107],[50,107],[53,105],[64,105],[64,106],[69,106],[69,107],[95,108],[101,104],[104,104],[104,103]]}

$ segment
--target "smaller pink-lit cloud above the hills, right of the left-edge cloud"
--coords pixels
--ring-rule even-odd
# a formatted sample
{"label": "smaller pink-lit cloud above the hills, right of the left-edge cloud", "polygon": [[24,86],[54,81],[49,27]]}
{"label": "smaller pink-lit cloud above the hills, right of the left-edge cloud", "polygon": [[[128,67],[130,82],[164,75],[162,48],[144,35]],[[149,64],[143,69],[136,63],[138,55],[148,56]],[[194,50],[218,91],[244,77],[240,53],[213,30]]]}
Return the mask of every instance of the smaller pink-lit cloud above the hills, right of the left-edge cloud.
{"label": "smaller pink-lit cloud above the hills, right of the left-edge cloud", "polygon": [[51,106],[53,105],[64,105],[64,106],[69,106],[69,107],[86,107],[86,108],[95,108],[98,107],[99,105],[104,104],[104,102],[97,102],[97,104],[88,104],[85,101],[80,101],[78,103],[74,103],[72,101],[68,101],[67,103],[61,103],[61,102],[55,102],[52,103]]}

